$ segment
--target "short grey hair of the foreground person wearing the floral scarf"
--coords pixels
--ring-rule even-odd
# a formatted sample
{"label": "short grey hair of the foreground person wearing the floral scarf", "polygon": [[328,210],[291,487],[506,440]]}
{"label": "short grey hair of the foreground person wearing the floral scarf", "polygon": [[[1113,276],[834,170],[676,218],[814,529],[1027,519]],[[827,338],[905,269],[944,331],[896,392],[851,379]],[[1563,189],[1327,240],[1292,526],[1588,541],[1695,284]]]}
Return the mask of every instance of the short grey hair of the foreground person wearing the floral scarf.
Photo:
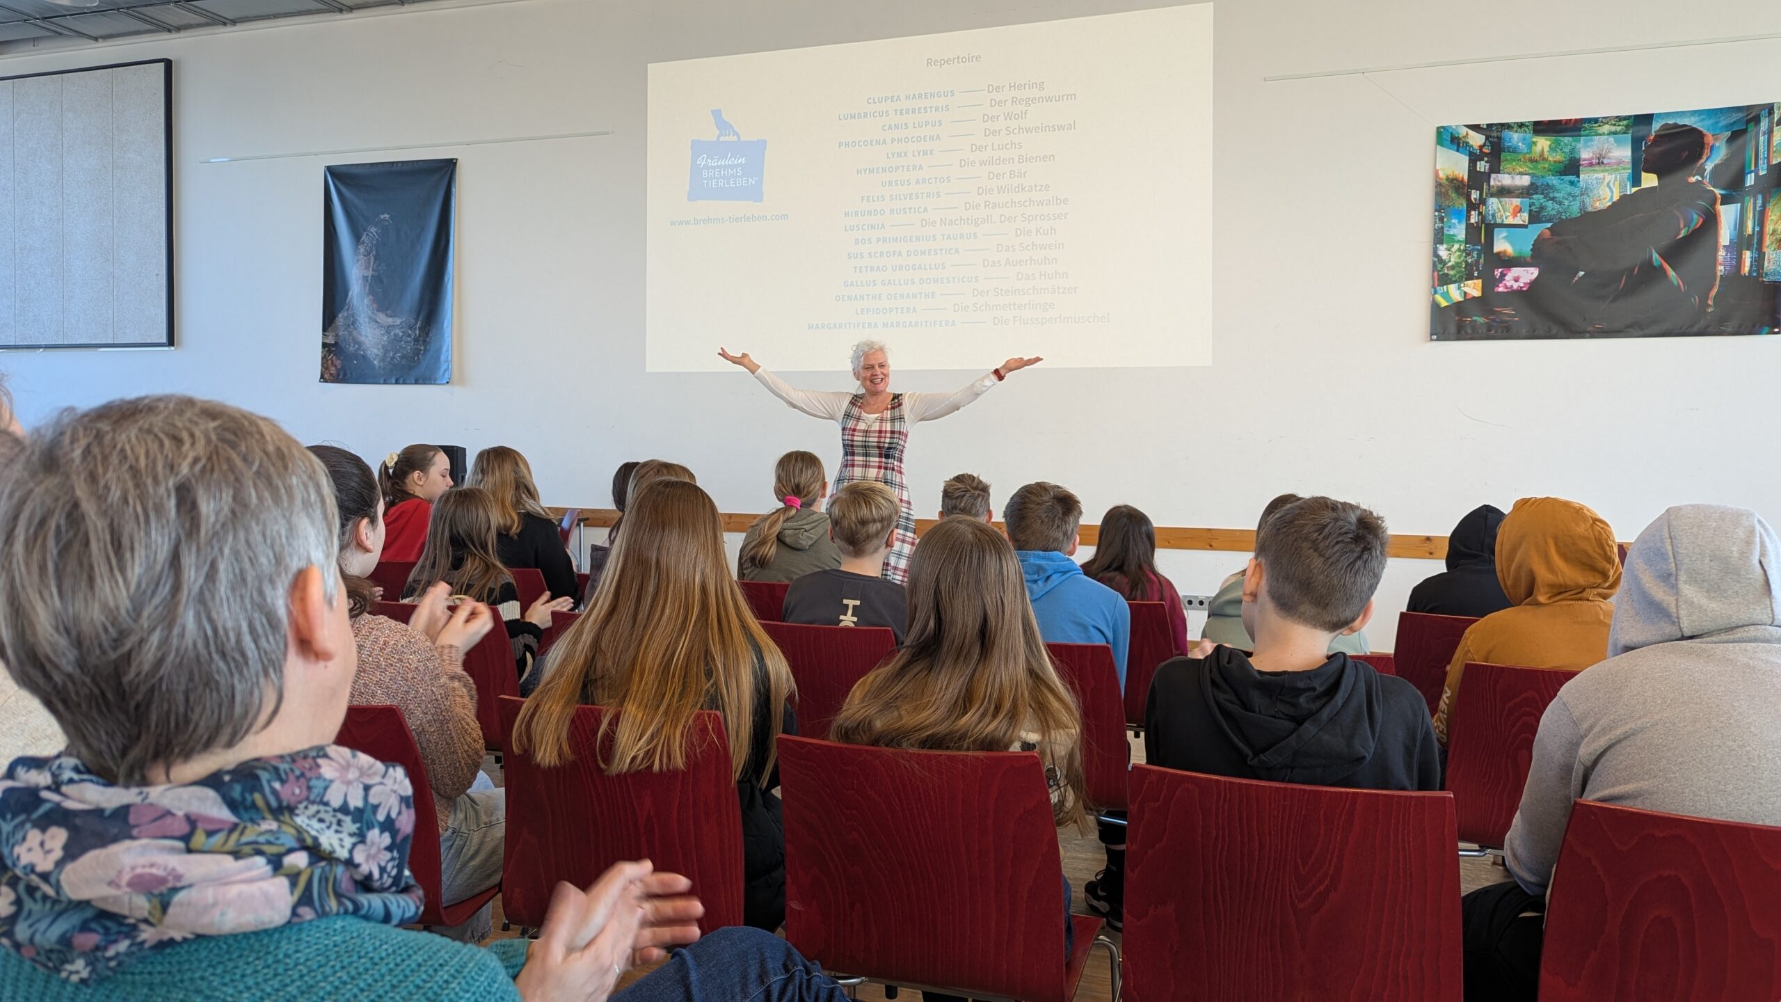
{"label": "short grey hair of the foreground person wearing the floral scarf", "polygon": [[[0,660],[110,783],[283,701],[290,585],[338,588],[333,487],[278,424],[183,396],[68,412],[0,476]],[[274,710],[276,711],[276,710]]]}

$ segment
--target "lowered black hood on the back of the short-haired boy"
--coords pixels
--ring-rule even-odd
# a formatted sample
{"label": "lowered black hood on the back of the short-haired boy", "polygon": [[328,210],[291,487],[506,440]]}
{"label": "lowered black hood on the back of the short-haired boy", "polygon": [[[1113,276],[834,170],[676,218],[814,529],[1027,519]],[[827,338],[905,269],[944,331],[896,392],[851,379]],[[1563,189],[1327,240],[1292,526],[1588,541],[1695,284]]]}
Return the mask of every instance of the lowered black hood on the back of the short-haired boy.
{"label": "lowered black hood on the back of the short-haired boy", "polygon": [[1257,672],[1229,647],[1206,661],[1202,697],[1256,776],[1330,786],[1373,758],[1384,720],[1378,676],[1357,670],[1348,654],[1309,672]]}

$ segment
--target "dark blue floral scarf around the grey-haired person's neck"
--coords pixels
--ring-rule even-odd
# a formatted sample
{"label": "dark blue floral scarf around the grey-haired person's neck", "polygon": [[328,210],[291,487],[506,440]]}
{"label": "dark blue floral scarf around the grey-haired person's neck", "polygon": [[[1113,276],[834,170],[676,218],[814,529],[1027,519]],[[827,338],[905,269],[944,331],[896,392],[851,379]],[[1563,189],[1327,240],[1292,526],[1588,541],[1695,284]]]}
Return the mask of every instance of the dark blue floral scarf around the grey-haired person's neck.
{"label": "dark blue floral scarf around the grey-haired person's neck", "polygon": [[329,915],[404,925],[413,790],[326,745],[185,786],[112,786],[73,758],[0,779],[0,947],[68,981],[192,936]]}

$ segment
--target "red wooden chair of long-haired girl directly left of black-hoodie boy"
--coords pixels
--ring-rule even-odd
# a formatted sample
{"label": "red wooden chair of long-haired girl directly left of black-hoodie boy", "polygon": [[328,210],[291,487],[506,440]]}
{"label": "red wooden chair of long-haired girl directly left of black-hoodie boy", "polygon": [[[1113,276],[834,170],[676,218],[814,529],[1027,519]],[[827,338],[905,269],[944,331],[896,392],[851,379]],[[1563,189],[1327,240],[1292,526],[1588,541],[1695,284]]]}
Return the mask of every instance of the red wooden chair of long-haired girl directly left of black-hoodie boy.
{"label": "red wooden chair of long-haired girl directly left of black-hoodie boy", "polygon": [[1069,1002],[1090,949],[1118,956],[1099,918],[1072,915],[1065,963],[1063,870],[1037,754],[794,736],[778,747],[785,938],[825,970]]}

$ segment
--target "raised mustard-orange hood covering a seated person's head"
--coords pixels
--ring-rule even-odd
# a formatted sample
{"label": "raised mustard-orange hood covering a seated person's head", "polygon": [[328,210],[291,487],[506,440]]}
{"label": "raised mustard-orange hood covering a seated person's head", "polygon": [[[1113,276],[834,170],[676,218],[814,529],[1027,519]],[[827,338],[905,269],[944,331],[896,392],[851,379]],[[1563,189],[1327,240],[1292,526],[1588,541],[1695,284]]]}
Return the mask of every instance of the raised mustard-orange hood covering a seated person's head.
{"label": "raised mustard-orange hood covering a seated person's head", "polygon": [[1517,606],[1608,601],[1621,551],[1601,515],[1562,497],[1523,497],[1496,531],[1496,579]]}

